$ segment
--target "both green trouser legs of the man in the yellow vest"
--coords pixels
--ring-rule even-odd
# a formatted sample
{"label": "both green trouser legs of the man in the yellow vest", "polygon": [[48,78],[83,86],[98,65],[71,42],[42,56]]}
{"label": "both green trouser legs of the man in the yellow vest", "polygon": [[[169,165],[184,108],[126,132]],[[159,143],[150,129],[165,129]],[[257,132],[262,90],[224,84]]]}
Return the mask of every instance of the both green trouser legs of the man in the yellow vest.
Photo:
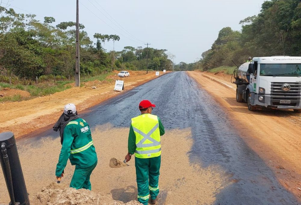
{"label": "both green trouser legs of the man in the yellow vest", "polygon": [[161,156],[147,159],[135,157],[138,201],[144,205],[148,204],[149,195],[155,199],[159,194],[160,165]]}

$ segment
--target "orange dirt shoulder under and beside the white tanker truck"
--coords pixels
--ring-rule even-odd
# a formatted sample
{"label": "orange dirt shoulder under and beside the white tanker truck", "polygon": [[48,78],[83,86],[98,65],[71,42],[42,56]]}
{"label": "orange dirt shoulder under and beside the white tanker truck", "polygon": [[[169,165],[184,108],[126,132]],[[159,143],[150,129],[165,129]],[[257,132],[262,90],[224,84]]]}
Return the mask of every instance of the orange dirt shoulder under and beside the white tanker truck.
{"label": "orange dirt shoulder under and beside the white tanker truck", "polygon": [[188,74],[225,108],[248,146],[274,171],[278,181],[301,200],[301,115],[292,110],[251,112],[236,102],[230,75],[189,71]]}

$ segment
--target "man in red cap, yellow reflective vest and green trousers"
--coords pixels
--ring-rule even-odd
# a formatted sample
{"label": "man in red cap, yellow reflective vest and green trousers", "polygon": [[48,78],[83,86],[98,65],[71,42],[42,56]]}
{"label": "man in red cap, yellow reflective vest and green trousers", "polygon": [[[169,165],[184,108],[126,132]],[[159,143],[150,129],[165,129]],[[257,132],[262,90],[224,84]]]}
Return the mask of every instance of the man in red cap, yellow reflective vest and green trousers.
{"label": "man in red cap, yellow reflective vest and green trousers", "polygon": [[148,100],[139,104],[141,115],[132,118],[129,131],[128,162],[135,153],[135,167],[138,185],[138,201],[148,204],[151,195],[151,204],[156,204],[159,194],[159,174],[161,164],[161,140],[165,131],[160,119],[151,112],[156,107]]}

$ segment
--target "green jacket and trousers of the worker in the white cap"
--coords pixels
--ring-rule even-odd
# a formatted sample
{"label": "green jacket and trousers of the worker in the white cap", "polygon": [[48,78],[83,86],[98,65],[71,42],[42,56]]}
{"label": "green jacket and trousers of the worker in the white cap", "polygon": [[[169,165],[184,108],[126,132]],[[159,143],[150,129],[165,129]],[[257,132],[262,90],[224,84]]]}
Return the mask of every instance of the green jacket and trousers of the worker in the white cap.
{"label": "green jacket and trousers of the worker in the white cap", "polygon": [[62,175],[68,158],[75,165],[70,187],[91,190],[90,175],[97,165],[97,155],[90,127],[82,118],[70,121],[64,129],[64,140],[55,172],[57,177]]}

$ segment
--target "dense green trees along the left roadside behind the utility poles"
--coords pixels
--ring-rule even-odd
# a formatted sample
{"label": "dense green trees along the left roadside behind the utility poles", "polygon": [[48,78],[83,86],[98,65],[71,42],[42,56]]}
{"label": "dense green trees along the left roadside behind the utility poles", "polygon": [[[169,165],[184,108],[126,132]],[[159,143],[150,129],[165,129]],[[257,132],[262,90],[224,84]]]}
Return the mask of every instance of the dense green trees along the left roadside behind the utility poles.
{"label": "dense green trees along the left roadside behind the utility poles", "polygon": [[[105,42],[119,41],[117,35],[95,31],[90,39],[80,25],[81,76],[95,76],[113,69],[143,70],[147,66],[147,49],[126,46],[122,51],[106,51]],[[96,43],[93,43],[95,40]],[[148,48],[150,70],[171,69],[166,50]],[[75,23],[56,23],[54,17],[36,20],[33,14],[18,14],[0,5],[0,82],[29,84],[48,78],[73,78],[75,73]]]}

